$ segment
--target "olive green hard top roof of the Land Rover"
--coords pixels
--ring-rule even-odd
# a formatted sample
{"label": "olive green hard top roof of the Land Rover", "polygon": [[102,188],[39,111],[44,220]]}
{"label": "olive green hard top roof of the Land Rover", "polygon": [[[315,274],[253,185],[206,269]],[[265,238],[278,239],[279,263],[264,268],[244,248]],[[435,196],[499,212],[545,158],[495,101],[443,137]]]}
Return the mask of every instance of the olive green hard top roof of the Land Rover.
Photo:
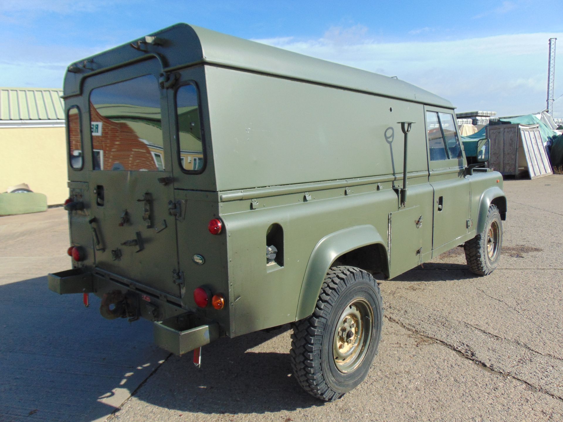
{"label": "olive green hard top roof of the Land Rover", "polygon": [[[69,66],[74,68],[74,72],[66,72],[65,96],[78,94],[81,79],[90,74],[100,73],[108,68],[114,68],[117,64],[142,60],[146,55],[158,53],[165,71],[198,63],[220,65],[448,109],[454,108],[448,100],[403,80],[315,59],[194,25],[176,24],[150,36],[159,38],[156,45],[144,43],[145,37],[142,37],[133,43],[123,44]],[[141,43],[138,44],[137,41]],[[144,51],[136,50],[132,45],[141,47]],[[83,65],[88,61],[90,63]]]}

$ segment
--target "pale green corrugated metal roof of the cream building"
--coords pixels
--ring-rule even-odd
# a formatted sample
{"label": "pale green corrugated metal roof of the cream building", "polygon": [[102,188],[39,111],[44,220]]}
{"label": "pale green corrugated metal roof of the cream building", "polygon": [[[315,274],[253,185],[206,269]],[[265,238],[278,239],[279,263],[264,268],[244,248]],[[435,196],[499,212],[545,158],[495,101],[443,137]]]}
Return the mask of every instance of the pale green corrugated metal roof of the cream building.
{"label": "pale green corrugated metal roof of the cream building", "polygon": [[0,120],[63,120],[62,89],[0,88]]}

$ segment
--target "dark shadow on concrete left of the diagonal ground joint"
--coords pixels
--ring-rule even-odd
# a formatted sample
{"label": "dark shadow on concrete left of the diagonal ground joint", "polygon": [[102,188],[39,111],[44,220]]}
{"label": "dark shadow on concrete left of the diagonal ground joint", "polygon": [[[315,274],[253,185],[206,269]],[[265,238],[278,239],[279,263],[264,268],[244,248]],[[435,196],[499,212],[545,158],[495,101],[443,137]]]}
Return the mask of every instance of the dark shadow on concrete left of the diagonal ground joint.
{"label": "dark shadow on concrete left of the diagonal ground joint", "polygon": [[0,420],[104,420],[168,356],[150,322],[105,320],[90,301],[47,277],[0,285]]}

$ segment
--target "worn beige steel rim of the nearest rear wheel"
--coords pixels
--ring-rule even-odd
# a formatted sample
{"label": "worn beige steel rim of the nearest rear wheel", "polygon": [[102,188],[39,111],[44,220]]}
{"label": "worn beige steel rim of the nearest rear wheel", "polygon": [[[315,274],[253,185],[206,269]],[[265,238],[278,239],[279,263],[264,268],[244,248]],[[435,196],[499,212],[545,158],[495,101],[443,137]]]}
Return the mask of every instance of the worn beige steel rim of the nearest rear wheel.
{"label": "worn beige steel rim of the nearest rear wheel", "polygon": [[334,330],[333,359],[343,374],[364,360],[373,331],[373,309],[365,299],[354,299],[338,317]]}

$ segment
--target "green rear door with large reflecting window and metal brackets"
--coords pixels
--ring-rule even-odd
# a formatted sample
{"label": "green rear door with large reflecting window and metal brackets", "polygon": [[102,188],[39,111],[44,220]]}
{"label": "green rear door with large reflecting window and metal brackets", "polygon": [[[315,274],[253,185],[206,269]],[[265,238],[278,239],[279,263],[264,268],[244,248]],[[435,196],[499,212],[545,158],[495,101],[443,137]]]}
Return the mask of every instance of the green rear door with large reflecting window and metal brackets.
{"label": "green rear door with large reflecting window and metal brackets", "polygon": [[90,148],[84,160],[96,267],[180,297],[173,276],[178,270],[168,124],[173,93],[159,86],[160,71],[159,61],[148,60],[86,79],[91,142],[85,143]]}

